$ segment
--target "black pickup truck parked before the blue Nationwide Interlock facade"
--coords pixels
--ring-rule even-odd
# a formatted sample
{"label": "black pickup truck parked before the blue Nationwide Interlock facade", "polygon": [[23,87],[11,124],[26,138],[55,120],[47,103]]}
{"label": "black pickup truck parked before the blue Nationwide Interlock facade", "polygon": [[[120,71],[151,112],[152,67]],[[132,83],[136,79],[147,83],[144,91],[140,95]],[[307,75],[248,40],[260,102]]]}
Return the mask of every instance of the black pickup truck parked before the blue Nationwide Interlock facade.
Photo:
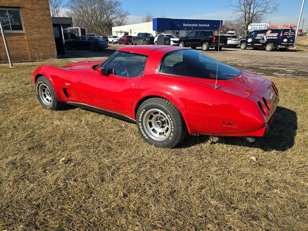
{"label": "black pickup truck parked before the blue Nationwide Interlock facade", "polygon": [[227,43],[228,43],[228,36],[213,35],[212,30],[196,30],[190,32],[184,37],[179,38],[180,47],[191,47],[193,49],[201,47],[203,51],[207,51],[209,50],[209,48],[213,47],[215,48],[216,51],[218,50],[220,51],[222,47],[227,46]]}

